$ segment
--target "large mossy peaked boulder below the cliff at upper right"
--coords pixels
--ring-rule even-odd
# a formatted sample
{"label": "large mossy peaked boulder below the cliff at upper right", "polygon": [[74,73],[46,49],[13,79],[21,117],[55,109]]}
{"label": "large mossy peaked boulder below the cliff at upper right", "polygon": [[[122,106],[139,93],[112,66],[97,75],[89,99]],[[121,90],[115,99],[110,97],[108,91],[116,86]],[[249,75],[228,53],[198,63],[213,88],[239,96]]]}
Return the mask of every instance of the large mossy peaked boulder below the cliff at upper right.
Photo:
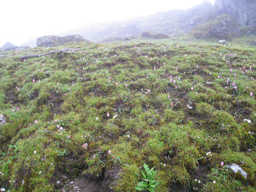
{"label": "large mossy peaked boulder below the cliff at upper right", "polygon": [[234,18],[229,15],[220,15],[201,26],[195,27],[190,32],[196,38],[218,38],[231,40],[242,36]]}

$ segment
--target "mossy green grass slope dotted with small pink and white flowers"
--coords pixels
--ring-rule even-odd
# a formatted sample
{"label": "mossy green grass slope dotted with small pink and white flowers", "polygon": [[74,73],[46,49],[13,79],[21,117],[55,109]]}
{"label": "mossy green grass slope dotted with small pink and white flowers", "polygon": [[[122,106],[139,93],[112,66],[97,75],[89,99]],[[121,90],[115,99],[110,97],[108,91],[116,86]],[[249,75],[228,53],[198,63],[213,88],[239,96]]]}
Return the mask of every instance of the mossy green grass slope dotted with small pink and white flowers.
{"label": "mossy green grass slope dotted with small pink and white flowers", "polygon": [[1,53],[0,188],[256,190],[255,47],[143,41]]}

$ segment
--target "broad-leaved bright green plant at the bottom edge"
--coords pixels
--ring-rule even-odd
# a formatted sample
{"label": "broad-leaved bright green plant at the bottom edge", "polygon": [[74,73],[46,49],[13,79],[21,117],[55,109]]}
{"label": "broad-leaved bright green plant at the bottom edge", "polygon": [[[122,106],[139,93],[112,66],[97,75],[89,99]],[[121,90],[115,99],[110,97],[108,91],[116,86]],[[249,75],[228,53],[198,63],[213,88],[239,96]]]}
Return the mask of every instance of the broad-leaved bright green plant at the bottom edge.
{"label": "broad-leaved bright green plant at the bottom edge", "polygon": [[154,171],[154,167],[149,170],[149,166],[144,163],[143,165],[145,172],[141,171],[143,175],[143,181],[140,181],[137,186],[135,186],[135,189],[137,190],[148,190],[150,192],[154,192],[156,186],[159,184],[158,181],[156,181],[155,174],[156,171]]}

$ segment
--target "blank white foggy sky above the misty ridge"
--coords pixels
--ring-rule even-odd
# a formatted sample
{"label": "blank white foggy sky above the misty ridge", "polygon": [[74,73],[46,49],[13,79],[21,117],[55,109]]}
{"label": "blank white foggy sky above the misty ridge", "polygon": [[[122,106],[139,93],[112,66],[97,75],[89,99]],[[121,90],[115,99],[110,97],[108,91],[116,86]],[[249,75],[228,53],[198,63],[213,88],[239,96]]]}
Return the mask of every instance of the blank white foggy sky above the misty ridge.
{"label": "blank white foggy sky above the misty ridge", "polygon": [[[90,23],[129,19],[203,0],[0,0],[0,47],[55,35]],[[210,0],[212,3],[214,0]],[[71,35],[71,34],[70,34]]]}

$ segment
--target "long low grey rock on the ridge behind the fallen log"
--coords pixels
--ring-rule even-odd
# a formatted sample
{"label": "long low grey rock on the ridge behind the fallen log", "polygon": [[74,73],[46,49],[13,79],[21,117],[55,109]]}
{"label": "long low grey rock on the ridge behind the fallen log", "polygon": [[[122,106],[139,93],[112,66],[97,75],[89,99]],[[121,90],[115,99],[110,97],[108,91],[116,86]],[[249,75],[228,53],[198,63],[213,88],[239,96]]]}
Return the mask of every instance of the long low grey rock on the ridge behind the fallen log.
{"label": "long low grey rock on the ridge behind the fallen log", "polygon": [[89,40],[81,35],[68,35],[65,37],[50,35],[37,38],[36,45],[38,47],[53,47],[64,45],[69,42],[89,42]]}

